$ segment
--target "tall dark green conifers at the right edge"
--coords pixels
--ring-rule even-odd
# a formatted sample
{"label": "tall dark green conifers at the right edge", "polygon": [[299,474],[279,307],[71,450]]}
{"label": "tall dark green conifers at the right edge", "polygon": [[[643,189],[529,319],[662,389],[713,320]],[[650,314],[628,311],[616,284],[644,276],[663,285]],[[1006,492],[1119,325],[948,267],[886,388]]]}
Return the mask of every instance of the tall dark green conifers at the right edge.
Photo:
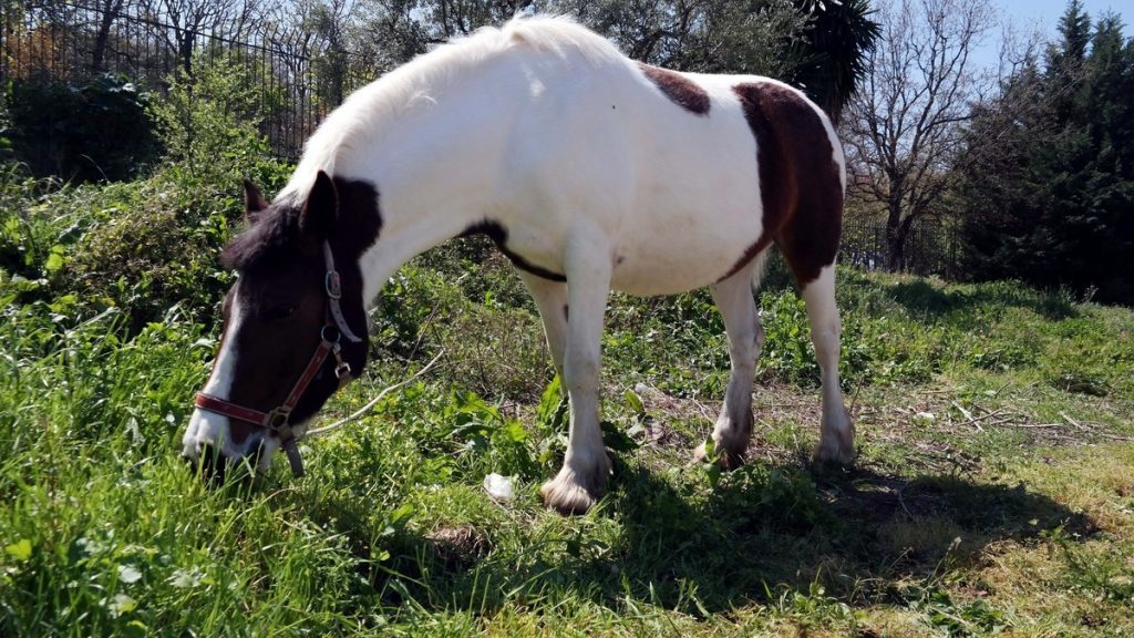
{"label": "tall dark green conifers at the right edge", "polygon": [[1070,2],[1046,65],[1033,59],[976,112],[958,199],[965,269],[1134,303],[1134,41],[1115,16],[1091,26]]}

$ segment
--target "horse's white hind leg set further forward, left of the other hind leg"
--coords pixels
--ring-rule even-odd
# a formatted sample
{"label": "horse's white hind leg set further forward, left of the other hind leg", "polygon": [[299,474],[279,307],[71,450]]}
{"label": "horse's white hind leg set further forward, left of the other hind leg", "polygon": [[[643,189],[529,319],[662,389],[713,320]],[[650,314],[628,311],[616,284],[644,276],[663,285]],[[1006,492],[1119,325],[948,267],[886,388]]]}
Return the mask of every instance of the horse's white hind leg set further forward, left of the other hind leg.
{"label": "horse's white hind leg set further forward, left of the other hind leg", "polygon": [[[752,438],[752,380],[764,343],[764,328],[756,314],[752,288],[765,255],[767,251],[747,268],[711,287],[713,302],[725,320],[731,363],[725,403],[712,431],[713,452],[725,468],[736,468],[744,462]],[[697,446],[695,457],[704,459],[704,447]]]}

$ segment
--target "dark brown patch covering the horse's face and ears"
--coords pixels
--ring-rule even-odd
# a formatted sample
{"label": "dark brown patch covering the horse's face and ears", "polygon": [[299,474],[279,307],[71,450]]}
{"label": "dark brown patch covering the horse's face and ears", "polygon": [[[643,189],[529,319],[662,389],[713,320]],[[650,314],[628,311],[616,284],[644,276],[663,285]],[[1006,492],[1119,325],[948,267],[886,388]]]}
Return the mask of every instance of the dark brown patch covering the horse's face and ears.
{"label": "dark brown patch covering the horse's face and ears", "polygon": [[[222,336],[236,339],[236,369],[227,397],[232,403],[261,411],[281,405],[311,360],[327,324],[324,240],[341,280],[346,321],[356,334],[366,334],[358,260],[382,226],[378,192],[366,182],[323,179],[302,207],[281,202],[255,211],[249,205],[252,225],[225,249],[222,262],[240,274],[230,293],[238,297],[240,328],[228,334],[226,308]],[[340,345],[352,376],[357,377],[369,344],[341,338]],[[329,358],[296,405],[293,423],[312,417],[338,389],[333,368]],[[229,425],[238,445],[259,429],[237,420]]]}

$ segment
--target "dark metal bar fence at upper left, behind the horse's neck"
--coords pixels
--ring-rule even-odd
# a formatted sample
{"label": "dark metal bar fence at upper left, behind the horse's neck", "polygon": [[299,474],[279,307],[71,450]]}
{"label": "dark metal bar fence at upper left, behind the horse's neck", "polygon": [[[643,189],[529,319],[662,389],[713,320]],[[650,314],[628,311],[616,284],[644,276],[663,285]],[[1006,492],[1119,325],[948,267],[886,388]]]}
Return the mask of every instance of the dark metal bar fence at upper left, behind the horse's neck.
{"label": "dark metal bar fence at upper left, behind the horse's neck", "polygon": [[0,85],[32,78],[82,83],[112,72],[164,92],[175,73],[192,74],[194,65],[225,56],[259,87],[260,128],[272,153],[294,160],[322,117],[372,79],[358,75],[362,65],[337,64],[346,53],[318,34],[235,18],[193,27],[184,16],[145,6],[0,0]]}

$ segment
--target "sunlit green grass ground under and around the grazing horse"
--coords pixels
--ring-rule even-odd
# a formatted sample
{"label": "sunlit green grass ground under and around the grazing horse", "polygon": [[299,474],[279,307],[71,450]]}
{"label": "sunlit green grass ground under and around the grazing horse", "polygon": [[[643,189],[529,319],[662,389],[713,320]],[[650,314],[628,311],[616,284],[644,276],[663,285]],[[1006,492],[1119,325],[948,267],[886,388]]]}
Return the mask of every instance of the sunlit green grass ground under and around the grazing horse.
{"label": "sunlit green grass ground under and around the grazing horse", "polygon": [[[214,328],[9,300],[0,635],[1134,631],[1134,312],[841,271],[861,456],[822,473],[805,314],[773,268],[756,436],[720,473],[689,462],[727,383],[708,294],[616,295],[616,472],[596,511],[565,519],[538,497],[564,446],[539,321],[484,250],[403,269],[374,363],[325,418],[446,347],[439,369],[306,443],[306,478],[280,462],[218,489],[177,457]],[[513,502],[486,496],[490,472]]]}

